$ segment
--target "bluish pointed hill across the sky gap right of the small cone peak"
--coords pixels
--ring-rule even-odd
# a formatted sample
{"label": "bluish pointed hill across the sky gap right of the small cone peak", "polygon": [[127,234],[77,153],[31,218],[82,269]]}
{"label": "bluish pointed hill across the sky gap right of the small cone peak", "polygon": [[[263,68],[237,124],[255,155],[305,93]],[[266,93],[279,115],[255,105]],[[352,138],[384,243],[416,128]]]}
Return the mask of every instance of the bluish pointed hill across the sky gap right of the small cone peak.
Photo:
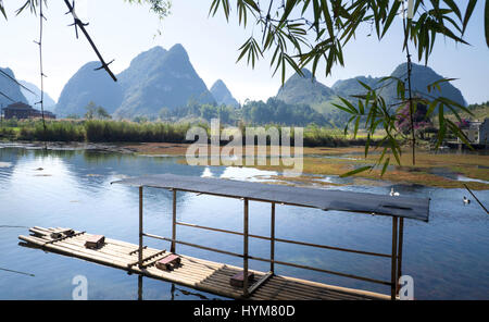
{"label": "bluish pointed hill across the sky gap right of the small cone peak", "polygon": [[303,69],[303,76],[293,74],[284,86],[278,89],[276,99],[289,104],[315,104],[330,100],[335,91],[312,77],[312,73]]}

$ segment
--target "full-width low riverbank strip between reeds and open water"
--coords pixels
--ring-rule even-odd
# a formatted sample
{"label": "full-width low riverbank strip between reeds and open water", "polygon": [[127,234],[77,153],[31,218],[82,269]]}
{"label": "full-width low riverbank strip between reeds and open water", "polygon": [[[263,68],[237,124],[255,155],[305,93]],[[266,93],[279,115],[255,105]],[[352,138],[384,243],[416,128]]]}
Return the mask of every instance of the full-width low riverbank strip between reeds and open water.
{"label": "full-width low riverbank strip between reeds and open water", "polygon": [[[92,150],[114,153],[130,153],[149,157],[181,157],[180,164],[187,164],[185,154],[189,144],[170,143],[139,143],[139,144],[86,144],[86,143],[48,143],[51,150]],[[42,149],[43,143],[8,143],[0,147],[25,147],[29,149]],[[209,151],[210,152],[210,151]],[[391,182],[393,184],[423,185],[440,188],[464,188],[466,184],[475,190],[489,189],[489,156],[476,153],[456,153],[456,151],[443,151],[435,153],[419,150],[416,152],[416,164],[412,164],[412,154],[406,149],[401,156],[401,166],[392,161],[380,176],[380,169],[365,171],[352,176],[349,183],[334,183],[325,181],[325,176],[339,177],[354,169],[373,165],[378,158],[378,152],[373,150],[364,158],[364,147],[314,147],[303,149],[303,175],[287,177],[281,173],[284,165],[246,165],[259,170],[274,171],[273,177],[283,183],[292,185],[376,185],[376,182]],[[271,154],[271,147],[267,147]],[[243,156],[244,157],[244,156]],[[393,158],[391,158],[393,160]],[[209,162],[210,164],[211,162]],[[223,165],[220,163],[220,165]]]}

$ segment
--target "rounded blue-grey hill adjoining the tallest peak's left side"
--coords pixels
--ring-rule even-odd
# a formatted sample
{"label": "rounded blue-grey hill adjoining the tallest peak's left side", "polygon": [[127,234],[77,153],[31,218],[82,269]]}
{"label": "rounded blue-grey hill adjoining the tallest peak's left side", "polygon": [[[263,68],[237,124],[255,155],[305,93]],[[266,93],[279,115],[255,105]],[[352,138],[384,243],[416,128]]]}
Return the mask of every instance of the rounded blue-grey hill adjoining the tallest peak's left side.
{"label": "rounded blue-grey hill adjoining the tallest peak's left side", "polygon": [[70,78],[61,91],[55,113],[59,117],[76,114],[83,116],[90,101],[113,113],[121,106],[121,85],[103,70],[95,71],[99,62],[89,62]]}

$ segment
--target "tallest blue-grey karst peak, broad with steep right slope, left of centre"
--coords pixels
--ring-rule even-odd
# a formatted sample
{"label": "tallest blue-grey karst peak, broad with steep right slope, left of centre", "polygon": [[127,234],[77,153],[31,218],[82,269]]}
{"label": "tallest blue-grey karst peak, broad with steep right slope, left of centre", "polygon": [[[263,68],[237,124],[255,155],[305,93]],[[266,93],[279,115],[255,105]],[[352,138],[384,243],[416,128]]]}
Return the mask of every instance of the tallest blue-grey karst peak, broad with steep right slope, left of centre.
{"label": "tallest blue-grey karst peak, broad with steep right slope, left of centre", "polygon": [[154,47],[136,57],[118,75],[124,97],[116,117],[158,115],[193,101],[215,103],[212,94],[179,44],[170,50]]}

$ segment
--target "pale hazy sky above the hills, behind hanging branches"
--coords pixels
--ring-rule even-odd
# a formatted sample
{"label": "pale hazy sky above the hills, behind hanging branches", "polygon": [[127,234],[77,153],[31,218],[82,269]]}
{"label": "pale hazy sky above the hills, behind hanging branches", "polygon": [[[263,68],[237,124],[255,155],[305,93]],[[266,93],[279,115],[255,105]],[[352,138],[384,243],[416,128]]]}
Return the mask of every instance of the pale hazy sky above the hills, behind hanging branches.
{"label": "pale hazy sky above the hills, behind hanging branches", "polygon": [[[10,67],[18,79],[39,86],[38,47],[33,41],[39,37],[39,20],[28,12],[20,16],[14,14],[24,1],[4,1],[9,21],[0,17],[0,66]],[[273,69],[267,60],[259,62],[254,70],[246,62],[236,63],[238,48],[251,33],[260,34],[260,28],[244,30],[238,26],[236,11],[229,24],[222,14],[208,17],[211,2],[173,0],[172,14],[161,23],[149,12],[149,7],[130,5],[123,0],[76,0],[76,8],[78,16],[90,23],[87,28],[105,61],[115,59],[111,65],[114,73],[125,70],[141,51],[154,46],[168,49],[179,42],[209,88],[221,78],[241,102],[247,98],[265,100],[275,96],[280,77],[278,74],[272,77]],[[467,1],[456,2],[465,8]],[[84,36],[76,39],[74,27],[67,27],[73,18],[64,14],[64,1],[49,0],[48,4],[43,34],[43,65],[48,75],[45,89],[58,100],[73,74],[97,57]],[[489,49],[484,39],[482,16],[484,1],[479,1],[466,32],[465,39],[471,46],[455,46],[439,38],[428,62],[438,74],[460,78],[453,84],[462,90],[468,103],[489,100]],[[161,36],[156,35],[159,28]],[[346,66],[335,67],[333,76],[327,78],[318,70],[318,81],[331,86],[338,79],[358,75],[390,74],[405,60],[401,51],[401,21],[398,20],[391,29],[392,33],[381,42],[375,37],[366,37],[368,30],[359,33],[344,49]]]}

